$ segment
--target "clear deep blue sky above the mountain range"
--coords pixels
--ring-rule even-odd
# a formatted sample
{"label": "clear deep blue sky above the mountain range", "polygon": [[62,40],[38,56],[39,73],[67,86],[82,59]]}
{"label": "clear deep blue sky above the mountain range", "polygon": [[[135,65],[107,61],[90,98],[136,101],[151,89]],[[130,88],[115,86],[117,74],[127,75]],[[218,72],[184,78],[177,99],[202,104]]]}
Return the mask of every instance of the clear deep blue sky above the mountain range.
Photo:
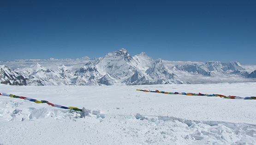
{"label": "clear deep blue sky above the mountain range", "polygon": [[0,61],[99,58],[256,64],[256,0],[0,0]]}

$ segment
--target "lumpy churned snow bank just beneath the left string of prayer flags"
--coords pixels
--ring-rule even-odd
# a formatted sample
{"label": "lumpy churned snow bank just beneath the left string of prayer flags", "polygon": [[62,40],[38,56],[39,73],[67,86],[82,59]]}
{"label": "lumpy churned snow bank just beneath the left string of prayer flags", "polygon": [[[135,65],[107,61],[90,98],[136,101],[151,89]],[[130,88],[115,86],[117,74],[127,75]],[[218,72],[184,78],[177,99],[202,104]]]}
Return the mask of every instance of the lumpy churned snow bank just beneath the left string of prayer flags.
{"label": "lumpy churned snow bank just beneath the left string of prayer flags", "polygon": [[[66,110],[52,107],[47,104],[32,104],[30,101],[15,100],[0,102],[0,121],[35,121],[37,119],[70,120],[93,116],[95,118],[104,118],[100,110],[89,110],[83,108],[83,111]],[[30,107],[27,107],[30,106]]]}

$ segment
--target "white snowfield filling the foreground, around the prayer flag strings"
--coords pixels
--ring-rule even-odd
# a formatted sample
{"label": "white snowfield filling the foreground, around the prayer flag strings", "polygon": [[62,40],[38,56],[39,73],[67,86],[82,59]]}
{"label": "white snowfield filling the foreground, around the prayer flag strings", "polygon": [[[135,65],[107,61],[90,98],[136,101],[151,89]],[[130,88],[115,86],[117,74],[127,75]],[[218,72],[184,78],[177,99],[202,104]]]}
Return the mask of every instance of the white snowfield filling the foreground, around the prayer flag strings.
{"label": "white snowfield filling the foreground, around the prayer flag strings", "polygon": [[1,84],[0,93],[84,107],[91,113],[81,117],[79,112],[0,96],[0,145],[256,144],[256,100],[145,93],[137,88],[256,96],[256,83],[41,87]]}

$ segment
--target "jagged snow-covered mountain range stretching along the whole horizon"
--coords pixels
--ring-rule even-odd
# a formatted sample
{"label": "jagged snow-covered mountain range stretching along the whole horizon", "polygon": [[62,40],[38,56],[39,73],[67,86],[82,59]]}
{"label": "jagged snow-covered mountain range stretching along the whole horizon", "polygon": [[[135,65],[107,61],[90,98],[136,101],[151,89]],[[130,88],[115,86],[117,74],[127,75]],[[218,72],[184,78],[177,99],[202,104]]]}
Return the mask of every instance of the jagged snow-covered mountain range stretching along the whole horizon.
{"label": "jagged snow-covered mountain range stretching along the whole horizon", "polygon": [[[31,64],[32,62],[34,64]],[[125,49],[109,52],[97,59],[51,58],[20,60],[6,64],[11,64],[11,68],[15,70],[1,65],[0,81],[10,85],[100,86],[256,81],[256,70],[249,72],[238,62],[153,60],[145,52],[132,57]],[[251,68],[253,67],[250,66],[250,70]]]}

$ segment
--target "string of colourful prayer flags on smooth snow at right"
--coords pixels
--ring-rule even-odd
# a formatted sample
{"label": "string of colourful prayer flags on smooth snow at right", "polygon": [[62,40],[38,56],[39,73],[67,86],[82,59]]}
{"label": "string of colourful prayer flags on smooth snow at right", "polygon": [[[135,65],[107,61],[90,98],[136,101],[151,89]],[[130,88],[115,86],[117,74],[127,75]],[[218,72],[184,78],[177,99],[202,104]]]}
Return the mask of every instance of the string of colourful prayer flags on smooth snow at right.
{"label": "string of colourful prayer flags on smooth snow at right", "polygon": [[143,92],[152,92],[152,93],[164,93],[164,94],[179,94],[179,95],[187,95],[187,96],[208,96],[208,97],[220,97],[220,98],[225,98],[225,99],[256,99],[256,97],[238,97],[238,96],[225,96],[221,94],[203,94],[203,93],[179,93],[179,92],[164,92],[164,91],[148,91],[148,90],[141,90],[141,89],[136,89],[136,91],[143,91]]}

